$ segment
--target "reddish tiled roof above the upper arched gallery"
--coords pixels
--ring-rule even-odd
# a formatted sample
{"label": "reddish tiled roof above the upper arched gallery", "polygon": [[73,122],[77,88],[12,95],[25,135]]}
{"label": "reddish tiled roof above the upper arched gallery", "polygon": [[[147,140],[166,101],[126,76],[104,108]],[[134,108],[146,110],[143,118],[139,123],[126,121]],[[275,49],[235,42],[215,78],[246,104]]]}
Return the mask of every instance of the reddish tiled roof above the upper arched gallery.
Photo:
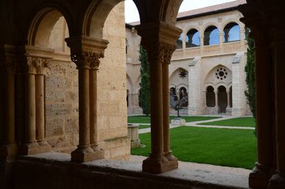
{"label": "reddish tiled roof above the upper arched gallery", "polygon": [[[235,8],[238,5],[242,5],[246,3],[246,0],[237,0],[237,1],[231,1],[228,3],[222,3],[219,5],[213,5],[213,6],[209,6],[209,7],[205,7],[205,8],[199,8],[199,9],[195,9],[195,10],[189,10],[186,12],[180,12],[178,13],[177,18],[183,18],[183,17],[187,17],[187,16],[195,16],[195,15],[199,15],[199,14],[207,14],[207,12],[214,12],[214,11],[219,11],[219,10],[224,10],[224,9],[229,9],[229,8]],[[131,22],[131,23],[127,23],[128,25],[140,25],[140,21],[136,21],[136,22]]]}

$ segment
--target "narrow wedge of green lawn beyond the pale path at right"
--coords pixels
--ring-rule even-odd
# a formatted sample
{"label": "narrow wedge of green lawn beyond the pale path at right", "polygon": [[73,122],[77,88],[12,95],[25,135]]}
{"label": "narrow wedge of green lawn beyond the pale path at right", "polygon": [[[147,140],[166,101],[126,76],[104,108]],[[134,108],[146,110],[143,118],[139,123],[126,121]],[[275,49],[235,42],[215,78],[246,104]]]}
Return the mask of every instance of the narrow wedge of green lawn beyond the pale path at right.
{"label": "narrow wedge of green lawn beyond the pale path at right", "polygon": [[233,118],[216,122],[201,123],[202,125],[219,125],[219,126],[252,126],[255,127],[254,118]]}

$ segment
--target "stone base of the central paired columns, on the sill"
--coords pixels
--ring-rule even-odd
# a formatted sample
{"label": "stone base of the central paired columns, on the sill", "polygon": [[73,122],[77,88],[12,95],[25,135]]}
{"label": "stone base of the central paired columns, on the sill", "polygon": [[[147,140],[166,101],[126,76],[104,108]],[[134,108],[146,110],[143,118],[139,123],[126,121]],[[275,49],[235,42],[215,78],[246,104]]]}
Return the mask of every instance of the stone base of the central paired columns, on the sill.
{"label": "stone base of the central paired columns, on the sill", "polygon": [[160,157],[148,157],[142,162],[142,171],[148,173],[165,173],[178,168],[178,160],[167,159],[164,155]]}

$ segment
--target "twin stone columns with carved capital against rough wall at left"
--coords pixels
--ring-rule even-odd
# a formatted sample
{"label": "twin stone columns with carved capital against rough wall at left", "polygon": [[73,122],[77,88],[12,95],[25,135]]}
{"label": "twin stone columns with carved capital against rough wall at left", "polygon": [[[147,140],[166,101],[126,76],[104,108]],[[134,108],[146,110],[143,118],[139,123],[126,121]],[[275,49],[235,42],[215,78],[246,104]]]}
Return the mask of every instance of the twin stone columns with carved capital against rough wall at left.
{"label": "twin stone columns with carved capital against rough wall at left", "polygon": [[28,54],[25,67],[25,132],[21,155],[50,151],[45,141],[45,104],[43,67],[47,59]]}

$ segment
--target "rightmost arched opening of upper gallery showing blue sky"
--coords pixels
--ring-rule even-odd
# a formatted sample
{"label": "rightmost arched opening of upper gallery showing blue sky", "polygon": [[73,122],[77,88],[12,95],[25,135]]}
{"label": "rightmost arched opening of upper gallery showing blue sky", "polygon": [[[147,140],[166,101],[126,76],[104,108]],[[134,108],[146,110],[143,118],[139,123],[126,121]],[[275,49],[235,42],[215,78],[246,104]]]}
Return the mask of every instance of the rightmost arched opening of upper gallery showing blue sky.
{"label": "rightmost arched opening of upper gallery showing blue sky", "polygon": [[228,23],[224,27],[224,43],[240,41],[240,25],[237,23]]}

